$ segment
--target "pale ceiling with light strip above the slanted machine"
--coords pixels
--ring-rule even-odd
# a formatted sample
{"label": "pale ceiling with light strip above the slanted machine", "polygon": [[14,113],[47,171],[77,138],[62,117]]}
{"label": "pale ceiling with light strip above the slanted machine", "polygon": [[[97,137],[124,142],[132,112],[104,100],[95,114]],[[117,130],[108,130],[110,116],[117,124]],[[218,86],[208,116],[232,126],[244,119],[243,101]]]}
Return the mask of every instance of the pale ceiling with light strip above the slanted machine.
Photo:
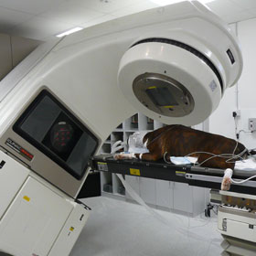
{"label": "pale ceiling with light strip above the slanted machine", "polygon": [[[228,23],[256,17],[256,0],[213,0]],[[0,0],[0,33],[48,40],[73,27],[91,27],[159,6],[153,0]]]}

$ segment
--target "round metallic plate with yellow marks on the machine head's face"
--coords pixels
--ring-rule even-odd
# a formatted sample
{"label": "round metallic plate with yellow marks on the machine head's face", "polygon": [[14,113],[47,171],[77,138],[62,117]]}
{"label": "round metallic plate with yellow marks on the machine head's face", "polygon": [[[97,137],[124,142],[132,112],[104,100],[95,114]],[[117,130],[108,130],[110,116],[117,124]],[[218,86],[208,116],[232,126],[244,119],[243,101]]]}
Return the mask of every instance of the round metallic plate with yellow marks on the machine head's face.
{"label": "round metallic plate with yellow marks on the machine head's face", "polygon": [[160,115],[183,117],[194,110],[191,93],[162,74],[144,73],[133,80],[133,93],[146,108]]}

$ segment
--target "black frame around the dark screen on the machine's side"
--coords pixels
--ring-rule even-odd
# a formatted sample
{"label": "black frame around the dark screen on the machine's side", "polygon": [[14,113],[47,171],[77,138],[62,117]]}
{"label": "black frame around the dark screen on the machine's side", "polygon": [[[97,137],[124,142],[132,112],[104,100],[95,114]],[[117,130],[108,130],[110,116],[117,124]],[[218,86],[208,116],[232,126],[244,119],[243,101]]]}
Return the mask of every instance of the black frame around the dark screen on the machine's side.
{"label": "black frame around the dark screen on the machine's side", "polygon": [[65,169],[65,171],[67,171],[71,176],[80,180],[84,176],[86,169],[88,168],[88,164],[84,167],[84,170],[80,175],[77,174],[76,171],[74,171],[72,168],[70,168],[69,165],[67,165],[65,163],[65,161],[63,161],[58,155],[55,155],[54,153],[52,153],[48,149],[47,146],[45,146],[44,144],[39,144],[37,142],[37,140],[35,140],[28,133],[26,133],[24,130],[21,129],[21,125],[27,120],[27,117],[29,116],[29,114],[35,110],[35,108],[37,107],[37,104],[40,101],[42,101],[44,99],[44,97],[46,97],[46,96],[48,96],[50,98],[50,100],[54,101],[59,106],[61,111],[64,112],[65,114],[67,114],[68,117],[80,127],[82,132],[86,132],[92,137],[92,139],[96,142],[96,145],[93,148],[91,155],[95,154],[95,152],[99,146],[99,139],[93,133],[91,133],[91,131],[87,127],[85,127],[82,123],[80,123],[80,120],[78,118],[76,118],[74,116],[74,114],[69,112],[69,110],[62,103],[60,103],[49,91],[47,91],[45,89],[39,92],[39,94],[37,95],[35,100],[32,101],[28,105],[25,112],[23,112],[20,115],[20,117],[17,119],[16,123],[13,125],[13,131],[15,133],[17,133],[18,135],[20,135],[23,139],[25,139],[29,144],[32,144],[33,146],[35,146],[44,155],[47,155],[57,165],[59,165],[63,169]]}

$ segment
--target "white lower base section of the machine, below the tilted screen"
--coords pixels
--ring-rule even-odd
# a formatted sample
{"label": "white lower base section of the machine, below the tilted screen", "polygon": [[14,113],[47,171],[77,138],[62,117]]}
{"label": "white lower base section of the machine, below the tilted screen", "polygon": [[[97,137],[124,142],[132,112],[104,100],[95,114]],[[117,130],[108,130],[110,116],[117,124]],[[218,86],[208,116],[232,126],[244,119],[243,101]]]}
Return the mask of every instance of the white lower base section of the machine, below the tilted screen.
{"label": "white lower base section of the machine, below the tilted screen", "polygon": [[5,152],[0,159],[0,254],[69,255],[90,211]]}

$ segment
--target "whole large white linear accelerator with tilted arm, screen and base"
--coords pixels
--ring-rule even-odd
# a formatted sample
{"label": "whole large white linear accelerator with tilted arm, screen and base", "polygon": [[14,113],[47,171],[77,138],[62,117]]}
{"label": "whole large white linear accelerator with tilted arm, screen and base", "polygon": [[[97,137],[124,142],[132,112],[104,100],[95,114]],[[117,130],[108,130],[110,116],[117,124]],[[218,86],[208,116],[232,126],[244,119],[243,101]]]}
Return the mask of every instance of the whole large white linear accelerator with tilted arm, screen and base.
{"label": "whole large white linear accelerator with tilted arm, screen and base", "polygon": [[[89,210],[89,159],[135,112],[203,122],[242,69],[228,26],[196,1],[37,48],[0,83],[0,251],[69,255]],[[85,241],[86,242],[86,241]]]}

